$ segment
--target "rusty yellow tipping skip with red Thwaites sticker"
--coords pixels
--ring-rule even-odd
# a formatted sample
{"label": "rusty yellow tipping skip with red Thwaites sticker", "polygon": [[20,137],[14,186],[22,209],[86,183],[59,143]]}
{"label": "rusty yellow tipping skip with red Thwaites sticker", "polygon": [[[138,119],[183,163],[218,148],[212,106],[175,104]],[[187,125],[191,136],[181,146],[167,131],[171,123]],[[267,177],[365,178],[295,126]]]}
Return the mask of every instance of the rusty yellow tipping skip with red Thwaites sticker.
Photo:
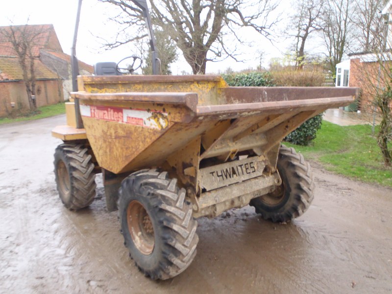
{"label": "rusty yellow tipping skip with red Thwaites sticker", "polygon": [[[99,167],[112,174],[159,167],[194,197],[226,189],[203,183],[203,173],[243,154],[256,156],[251,164],[270,177],[236,185],[244,192],[253,181],[267,193],[280,181],[273,173],[283,138],[307,119],[347,105],[358,95],[357,88],[228,87],[218,75],[79,76],[78,84],[80,91],[72,97],[79,99],[85,135]],[[61,129],[53,134],[67,141]],[[245,204],[236,205],[246,205],[252,197],[249,192],[247,198],[238,198]],[[213,204],[209,201],[211,197],[195,200],[195,211],[208,209]],[[200,215],[217,214],[214,209]]]}

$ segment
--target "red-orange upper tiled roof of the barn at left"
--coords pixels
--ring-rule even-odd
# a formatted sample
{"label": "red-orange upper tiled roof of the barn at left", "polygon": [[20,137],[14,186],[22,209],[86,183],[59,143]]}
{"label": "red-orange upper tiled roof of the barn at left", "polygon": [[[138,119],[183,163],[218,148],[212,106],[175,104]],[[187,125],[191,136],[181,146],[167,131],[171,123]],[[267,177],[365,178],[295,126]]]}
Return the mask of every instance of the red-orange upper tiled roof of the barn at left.
{"label": "red-orange upper tiled roof of the barn at left", "polygon": [[53,25],[13,25],[0,26],[0,55],[16,55],[7,38],[12,32],[11,28],[17,37],[22,34],[25,34],[26,38],[34,36],[33,41],[31,41],[33,43],[32,51],[34,56],[39,55],[40,49],[63,51]]}

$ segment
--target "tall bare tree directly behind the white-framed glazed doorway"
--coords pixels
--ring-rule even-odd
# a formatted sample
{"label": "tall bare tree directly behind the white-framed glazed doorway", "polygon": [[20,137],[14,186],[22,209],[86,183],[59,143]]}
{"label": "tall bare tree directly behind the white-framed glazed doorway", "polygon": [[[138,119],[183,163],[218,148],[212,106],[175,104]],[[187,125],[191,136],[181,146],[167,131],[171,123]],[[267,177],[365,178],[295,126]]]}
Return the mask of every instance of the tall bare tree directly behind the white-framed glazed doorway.
{"label": "tall bare tree directly behind the white-framed glazed doorway", "polygon": [[322,12],[322,37],[327,49],[330,71],[335,75],[336,65],[342,61],[343,54],[350,45],[353,12],[351,0],[327,0]]}

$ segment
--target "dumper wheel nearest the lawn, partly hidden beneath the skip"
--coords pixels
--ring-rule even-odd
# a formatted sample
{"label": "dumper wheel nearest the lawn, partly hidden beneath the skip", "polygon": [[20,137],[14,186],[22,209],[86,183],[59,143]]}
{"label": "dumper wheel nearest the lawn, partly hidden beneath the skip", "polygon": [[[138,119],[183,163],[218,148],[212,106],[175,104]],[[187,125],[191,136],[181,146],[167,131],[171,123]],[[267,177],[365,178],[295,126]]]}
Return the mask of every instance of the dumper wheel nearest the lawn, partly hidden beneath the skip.
{"label": "dumper wheel nearest the lawn, partly hidden beneath the skip", "polygon": [[313,200],[313,175],[302,154],[285,146],[280,147],[277,169],[282,185],[267,195],[253,198],[249,204],[266,220],[291,221],[301,216]]}

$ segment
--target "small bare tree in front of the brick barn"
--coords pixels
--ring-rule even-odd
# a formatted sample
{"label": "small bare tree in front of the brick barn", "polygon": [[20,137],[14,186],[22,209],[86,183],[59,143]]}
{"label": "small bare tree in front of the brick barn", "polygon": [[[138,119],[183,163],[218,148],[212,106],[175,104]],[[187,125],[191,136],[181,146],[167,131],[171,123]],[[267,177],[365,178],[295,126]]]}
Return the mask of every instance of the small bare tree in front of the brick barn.
{"label": "small bare tree in front of the brick barn", "polygon": [[7,41],[2,46],[11,49],[11,54],[15,54],[21,66],[30,110],[37,108],[33,97],[36,83],[35,60],[39,58],[39,52],[34,49],[44,38],[44,33],[42,25],[11,25],[0,28],[1,39]]}

